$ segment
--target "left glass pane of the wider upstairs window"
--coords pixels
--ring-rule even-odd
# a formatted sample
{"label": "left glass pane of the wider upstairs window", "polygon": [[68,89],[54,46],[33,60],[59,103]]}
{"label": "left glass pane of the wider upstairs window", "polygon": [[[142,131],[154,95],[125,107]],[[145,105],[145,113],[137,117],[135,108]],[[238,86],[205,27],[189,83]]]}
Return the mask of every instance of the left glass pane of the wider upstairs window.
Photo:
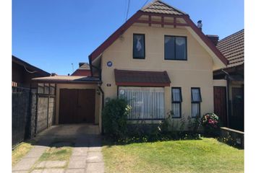
{"label": "left glass pane of the wider upstairs window", "polygon": [[164,59],[175,59],[174,37],[164,37]]}

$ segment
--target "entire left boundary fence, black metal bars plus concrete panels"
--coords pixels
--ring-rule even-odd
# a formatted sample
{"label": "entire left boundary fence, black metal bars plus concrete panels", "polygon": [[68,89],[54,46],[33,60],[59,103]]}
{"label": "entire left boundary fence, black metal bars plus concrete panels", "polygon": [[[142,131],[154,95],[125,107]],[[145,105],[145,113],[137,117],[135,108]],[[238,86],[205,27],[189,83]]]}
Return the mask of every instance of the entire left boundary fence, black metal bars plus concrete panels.
{"label": "entire left boundary fence, black metal bars plus concrete panels", "polygon": [[49,87],[53,92],[41,93],[38,89],[12,86],[12,146],[54,124],[55,87]]}

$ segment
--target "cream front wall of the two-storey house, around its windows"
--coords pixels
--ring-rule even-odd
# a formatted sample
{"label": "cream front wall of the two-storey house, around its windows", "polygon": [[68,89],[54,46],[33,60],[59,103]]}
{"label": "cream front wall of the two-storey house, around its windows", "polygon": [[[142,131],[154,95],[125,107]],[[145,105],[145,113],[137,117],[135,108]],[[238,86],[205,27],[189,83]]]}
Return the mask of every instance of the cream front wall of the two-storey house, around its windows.
{"label": "cream front wall of the two-storey house, around its windows", "polygon": [[[145,59],[132,58],[133,33],[145,34]],[[187,36],[187,61],[164,60],[164,35]],[[102,88],[105,98],[117,96],[114,68],[124,70],[167,71],[171,86],[182,87],[182,116],[191,113],[191,87],[200,87],[201,115],[213,112],[213,59],[185,28],[138,27],[124,32],[102,56]],[[113,66],[106,63],[111,61]],[[111,84],[111,86],[107,86]],[[165,112],[171,110],[171,87],[165,87]]]}

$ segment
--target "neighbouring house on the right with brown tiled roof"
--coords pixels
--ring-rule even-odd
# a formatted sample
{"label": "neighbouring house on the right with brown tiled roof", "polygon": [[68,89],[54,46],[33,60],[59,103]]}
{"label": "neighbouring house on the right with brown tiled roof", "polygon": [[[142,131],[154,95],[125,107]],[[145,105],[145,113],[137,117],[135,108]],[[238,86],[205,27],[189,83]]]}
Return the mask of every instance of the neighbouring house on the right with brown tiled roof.
{"label": "neighbouring house on the right with brown tiled roof", "polygon": [[[244,30],[223,38],[217,48],[229,64],[226,68],[213,71],[213,79],[227,81],[227,87],[216,86],[214,89],[216,113],[225,117],[225,126],[244,130]],[[226,98],[229,98],[228,104]]]}

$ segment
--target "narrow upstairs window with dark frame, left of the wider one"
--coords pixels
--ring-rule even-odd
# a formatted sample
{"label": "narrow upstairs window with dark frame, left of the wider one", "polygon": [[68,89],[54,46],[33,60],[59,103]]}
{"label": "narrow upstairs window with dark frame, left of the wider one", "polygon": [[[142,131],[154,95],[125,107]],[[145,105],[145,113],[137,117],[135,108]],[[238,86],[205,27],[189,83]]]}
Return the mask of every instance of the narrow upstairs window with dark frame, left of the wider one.
{"label": "narrow upstairs window with dark frame, left of the wider one", "polygon": [[145,59],[145,35],[133,35],[133,58]]}

